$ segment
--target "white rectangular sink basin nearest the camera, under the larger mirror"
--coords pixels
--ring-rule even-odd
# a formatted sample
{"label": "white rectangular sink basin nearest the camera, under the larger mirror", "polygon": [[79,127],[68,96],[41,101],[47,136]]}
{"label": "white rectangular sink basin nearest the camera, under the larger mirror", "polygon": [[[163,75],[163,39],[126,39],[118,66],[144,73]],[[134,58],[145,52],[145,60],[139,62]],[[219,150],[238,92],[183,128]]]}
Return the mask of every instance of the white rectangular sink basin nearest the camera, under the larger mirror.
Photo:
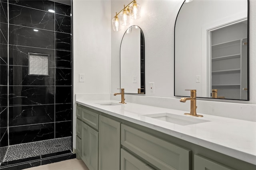
{"label": "white rectangular sink basin nearest the camera, under the larger mirror", "polygon": [[150,114],[150,115],[144,115],[144,116],[152,117],[154,119],[167,121],[167,122],[178,124],[178,125],[192,125],[197,123],[208,122],[208,120],[195,118],[192,116],[175,115],[172,113],[156,113],[156,114]]}

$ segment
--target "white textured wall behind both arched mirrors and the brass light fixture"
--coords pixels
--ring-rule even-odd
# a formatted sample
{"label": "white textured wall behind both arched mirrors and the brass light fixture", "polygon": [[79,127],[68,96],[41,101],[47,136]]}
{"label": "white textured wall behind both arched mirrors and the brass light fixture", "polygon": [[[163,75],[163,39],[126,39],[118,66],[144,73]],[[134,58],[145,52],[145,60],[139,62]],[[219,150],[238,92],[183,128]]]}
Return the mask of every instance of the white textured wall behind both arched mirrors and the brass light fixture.
{"label": "white textured wall behind both arched mirrors and the brass light fixture", "polygon": [[[115,12],[129,2],[112,1],[111,16],[114,17]],[[183,0],[139,0],[137,2],[141,5],[142,14],[141,18],[134,20],[132,24],[141,27],[145,35],[146,96],[176,98],[174,97],[174,24]],[[224,100],[226,102],[256,104],[255,8],[256,1],[250,1],[250,101]],[[119,86],[119,48],[122,35],[128,27],[125,26],[121,31],[111,33],[112,93],[116,92]],[[149,82],[154,82],[154,94],[149,93]]]}

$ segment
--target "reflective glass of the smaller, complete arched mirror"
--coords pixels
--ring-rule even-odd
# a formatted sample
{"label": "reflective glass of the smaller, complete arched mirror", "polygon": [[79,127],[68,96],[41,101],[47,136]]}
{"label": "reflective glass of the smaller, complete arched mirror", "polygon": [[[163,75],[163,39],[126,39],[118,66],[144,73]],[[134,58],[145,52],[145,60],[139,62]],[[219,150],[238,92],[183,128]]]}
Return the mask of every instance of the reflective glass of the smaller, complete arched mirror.
{"label": "reflective glass of the smaller, complete arched mirror", "polygon": [[145,39],[137,25],[129,27],[120,46],[120,88],[125,93],[145,94]]}

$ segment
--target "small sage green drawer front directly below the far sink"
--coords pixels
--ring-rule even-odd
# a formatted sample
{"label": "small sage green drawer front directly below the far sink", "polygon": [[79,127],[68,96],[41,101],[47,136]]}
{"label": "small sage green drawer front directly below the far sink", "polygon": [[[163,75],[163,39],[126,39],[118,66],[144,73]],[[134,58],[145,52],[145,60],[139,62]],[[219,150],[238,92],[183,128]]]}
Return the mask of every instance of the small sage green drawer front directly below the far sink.
{"label": "small sage green drawer front directly below the far sink", "polygon": [[82,121],[94,129],[99,129],[99,115],[91,109],[82,108]]}

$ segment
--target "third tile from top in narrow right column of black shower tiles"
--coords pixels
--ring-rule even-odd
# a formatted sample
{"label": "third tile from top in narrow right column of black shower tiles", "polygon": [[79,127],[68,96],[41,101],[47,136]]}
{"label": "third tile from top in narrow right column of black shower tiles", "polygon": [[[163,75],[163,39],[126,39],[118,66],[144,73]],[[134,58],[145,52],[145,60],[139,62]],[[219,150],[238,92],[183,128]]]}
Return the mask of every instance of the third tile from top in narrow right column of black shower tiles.
{"label": "third tile from top in narrow right column of black shower tiles", "polygon": [[55,33],[55,49],[70,51],[71,35],[68,33]]}

